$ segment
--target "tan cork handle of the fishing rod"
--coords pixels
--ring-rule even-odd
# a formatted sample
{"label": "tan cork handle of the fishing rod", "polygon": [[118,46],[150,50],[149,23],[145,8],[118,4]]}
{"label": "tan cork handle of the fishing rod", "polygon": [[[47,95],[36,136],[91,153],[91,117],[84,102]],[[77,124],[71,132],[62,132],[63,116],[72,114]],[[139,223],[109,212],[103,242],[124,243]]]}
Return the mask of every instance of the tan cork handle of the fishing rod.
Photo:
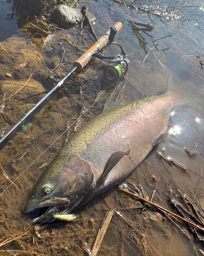
{"label": "tan cork handle of the fishing rod", "polygon": [[[114,27],[117,29],[117,32],[121,30],[122,23],[117,22]],[[104,46],[106,46],[109,42],[109,36],[110,36],[111,30],[109,29],[105,35],[101,36],[97,42],[89,48],[88,51],[86,51],[78,60],[73,62],[73,67],[77,67],[77,71],[80,72],[84,66],[87,65],[90,59],[92,59],[92,54],[94,52],[99,52]]]}

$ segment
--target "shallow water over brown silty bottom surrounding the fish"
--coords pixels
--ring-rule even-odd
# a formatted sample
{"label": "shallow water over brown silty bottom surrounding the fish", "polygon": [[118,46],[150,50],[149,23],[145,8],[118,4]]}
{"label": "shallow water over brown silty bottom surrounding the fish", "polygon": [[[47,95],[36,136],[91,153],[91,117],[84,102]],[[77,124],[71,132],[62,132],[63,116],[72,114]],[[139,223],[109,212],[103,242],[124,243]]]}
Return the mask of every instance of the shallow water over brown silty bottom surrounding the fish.
{"label": "shallow water over brown silty bottom surrounding the fish", "polygon": [[[203,70],[196,57],[199,55],[204,57],[203,9],[186,7],[175,9],[175,12],[173,10],[166,12],[164,8],[166,5],[186,6],[187,4],[185,1],[182,3],[179,1],[162,1],[162,3],[148,1],[148,4],[146,1],[136,2],[137,7],[146,11],[152,9],[152,6],[159,9],[155,13],[162,14],[164,17],[161,18],[152,13],[148,14],[146,11],[119,6],[112,1],[90,1],[86,4],[98,19],[94,30],[99,36],[117,21],[123,23],[122,31],[116,35],[115,41],[124,47],[126,54],[132,53],[128,56],[130,65],[126,77],[133,84],[126,80],[118,83],[119,87],[113,93],[111,100],[115,99],[125,83],[120,100],[126,103],[152,94],[164,93],[170,75],[178,77],[178,87],[186,84],[185,94],[188,102],[177,106],[169,121],[169,131],[171,129],[174,131],[152,150],[127,180],[138,186],[141,184],[145,196],[149,199],[157,187],[153,201],[171,211],[174,209],[168,200],[170,186],[172,186],[173,195],[177,195],[177,189],[180,189],[193,201],[197,199],[198,203],[204,207]],[[192,1],[188,5],[200,6],[202,2]],[[1,20],[7,12],[11,12],[10,6],[10,3],[1,2]],[[168,9],[173,9],[173,7]],[[128,22],[129,19],[142,23],[152,21],[155,38],[141,32],[138,35],[139,44],[138,37],[133,33],[133,28]],[[54,63],[60,63],[63,57],[66,65],[58,70],[59,73],[54,74],[56,76],[66,74],[71,69],[72,62],[81,56],[82,52],[67,44],[65,40],[52,35],[47,36],[32,27],[29,27],[29,31],[25,34],[22,31],[27,30],[21,28],[20,31],[15,25],[15,19],[4,19],[0,29],[0,45],[7,50],[7,54],[0,52],[2,54],[0,55],[0,76],[1,80],[12,83],[10,85],[1,81],[1,92],[6,93],[7,98],[19,89],[19,84],[16,83],[24,84],[34,72],[28,87],[5,101],[3,108],[1,107],[0,133],[4,134],[43,95],[25,98],[21,101],[19,99],[52,88],[54,82],[46,75],[50,75],[50,70],[55,67]],[[153,35],[153,32],[148,33]],[[152,42],[170,34],[173,35],[155,44]],[[56,30],[55,35],[69,36],[71,42],[82,49],[90,47],[87,42],[89,37],[83,32],[84,38],[82,38],[79,28],[69,28],[66,31]],[[167,50],[162,51],[163,49]],[[107,47],[105,53],[115,55],[118,51],[117,47],[114,49]],[[149,51],[146,60],[141,64]],[[87,65],[80,73],[81,79],[83,76],[93,77],[96,74],[97,63],[97,60],[92,60],[90,65]],[[165,68],[161,67],[161,63]],[[33,239],[31,220],[36,217],[36,214],[24,214],[22,205],[38,177],[45,170],[46,166],[42,165],[48,165],[52,161],[62,148],[67,134],[61,136],[47,150],[46,148],[66,130],[67,125],[69,126],[79,117],[82,109],[79,103],[83,104],[86,101],[87,105],[91,105],[99,91],[104,89],[99,78],[95,83],[93,81],[82,82],[81,86],[82,94],[79,93],[79,84],[76,84],[62,93],[51,96],[35,115],[29,117],[24,123],[26,126],[20,127],[17,133],[11,136],[10,142],[0,152],[2,166],[0,193],[10,184],[10,181],[3,175],[4,172],[11,181],[20,175],[15,182],[16,186],[10,186],[0,196],[0,243],[15,234],[19,236],[22,232],[27,232],[24,235],[27,238],[14,240],[0,247],[0,250],[13,250],[12,253],[21,253],[21,255],[33,255],[34,253],[37,255],[83,255],[85,247],[92,248],[106,212],[113,209],[120,212],[126,221],[117,213],[114,214],[97,255],[200,255],[199,249],[204,251],[203,244],[195,239],[185,225],[180,224],[182,228],[186,228],[187,236],[167,218],[162,217],[157,209],[135,209],[141,204],[118,192],[116,188],[108,191],[104,198],[96,198],[87,207],[77,210],[79,214],[77,221],[67,224],[55,222],[39,225],[39,230],[36,231]],[[97,101],[96,106],[99,108],[103,106],[113,89],[109,90]],[[0,97],[2,102],[4,94]],[[95,116],[97,112],[89,111],[89,114]],[[76,129],[79,129],[90,118],[82,117]],[[68,130],[69,135],[74,126],[75,124]],[[184,147],[189,152],[195,153],[195,156],[190,156]],[[174,169],[162,161],[155,154],[156,152],[161,152],[162,156],[188,168],[190,176],[184,169],[180,167]],[[43,155],[40,156],[42,153]],[[33,163],[34,160],[36,161]],[[27,169],[31,164],[32,166]],[[152,176],[156,177],[156,180]],[[10,255],[3,251],[0,254]]]}

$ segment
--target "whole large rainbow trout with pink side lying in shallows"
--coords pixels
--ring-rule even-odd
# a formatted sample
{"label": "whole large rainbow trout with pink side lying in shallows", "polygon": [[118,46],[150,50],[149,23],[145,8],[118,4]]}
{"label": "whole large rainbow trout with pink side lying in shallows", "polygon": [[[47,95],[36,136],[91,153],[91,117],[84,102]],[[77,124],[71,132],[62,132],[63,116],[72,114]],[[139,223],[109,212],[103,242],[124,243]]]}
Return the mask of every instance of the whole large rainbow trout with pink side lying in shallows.
{"label": "whole large rainbow trout with pink side lying in shallows", "polygon": [[170,113],[181,101],[176,91],[170,77],[165,94],[120,106],[111,102],[75,133],[23,205],[24,212],[49,207],[33,223],[69,214],[129,176],[167,136]]}

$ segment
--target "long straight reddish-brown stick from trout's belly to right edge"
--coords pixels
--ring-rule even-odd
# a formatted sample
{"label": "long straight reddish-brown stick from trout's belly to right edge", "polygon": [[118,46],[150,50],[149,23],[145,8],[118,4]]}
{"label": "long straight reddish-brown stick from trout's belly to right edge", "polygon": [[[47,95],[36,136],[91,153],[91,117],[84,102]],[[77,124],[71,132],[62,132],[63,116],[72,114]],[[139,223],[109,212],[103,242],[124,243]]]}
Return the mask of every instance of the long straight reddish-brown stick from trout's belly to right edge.
{"label": "long straight reddish-brown stick from trout's belly to right edge", "polygon": [[150,202],[149,200],[146,200],[146,199],[144,199],[144,198],[142,198],[142,197],[140,197],[140,196],[138,196],[138,195],[135,195],[135,194],[133,194],[133,193],[131,193],[131,192],[129,192],[129,191],[123,189],[121,186],[119,186],[118,188],[119,188],[119,190],[123,191],[124,193],[126,193],[126,194],[128,194],[128,195],[130,195],[130,196],[132,196],[132,197],[134,197],[134,198],[136,198],[136,199],[139,199],[139,200],[141,200],[141,201],[144,201],[144,202],[146,202],[146,203],[148,203],[148,204],[150,204],[150,205],[152,205],[152,206],[155,206],[156,208],[158,208],[158,209],[160,209],[160,210],[166,211],[166,212],[168,212],[168,214],[170,214],[170,215],[172,215],[172,216],[174,216],[174,217],[176,217],[176,218],[178,218],[178,219],[180,219],[180,220],[182,220],[182,221],[188,223],[189,225],[193,226],[194,228],[196,228],[196,229],[198,229],[198,230],[200,230],[200,231],[204,231],[204,228],[201,228],[201,227],[195,225],[194,223],[192,223],[192,222],[190,222],[190,221],[188,221],[188,220],[182,218],[181,216],[179,216],[179,215],[177,215],[177,214],[174,214],[172,211],[167,210],[167,209],[163,208],[162,206],[160,206],[160,205],[158,205],[158,204],[152,203],[152,202]]}

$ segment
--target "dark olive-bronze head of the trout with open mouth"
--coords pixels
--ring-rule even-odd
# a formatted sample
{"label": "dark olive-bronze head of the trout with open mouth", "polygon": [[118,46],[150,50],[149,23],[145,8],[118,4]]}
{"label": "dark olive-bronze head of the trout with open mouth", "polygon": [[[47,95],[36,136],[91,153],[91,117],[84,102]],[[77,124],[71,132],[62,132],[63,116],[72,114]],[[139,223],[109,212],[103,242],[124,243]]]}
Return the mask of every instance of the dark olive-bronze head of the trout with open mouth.
{"label": "dark olive-bronze head of the trout with open mouth", "polygon": [[53,221],[54,215],[67,214],[79,208],[83,202],[91,200],[95,170],[79,154],[56,157],[36,183],[23,205],[23,211],[48,207],[44,214],[33,220],[37,224]]}

